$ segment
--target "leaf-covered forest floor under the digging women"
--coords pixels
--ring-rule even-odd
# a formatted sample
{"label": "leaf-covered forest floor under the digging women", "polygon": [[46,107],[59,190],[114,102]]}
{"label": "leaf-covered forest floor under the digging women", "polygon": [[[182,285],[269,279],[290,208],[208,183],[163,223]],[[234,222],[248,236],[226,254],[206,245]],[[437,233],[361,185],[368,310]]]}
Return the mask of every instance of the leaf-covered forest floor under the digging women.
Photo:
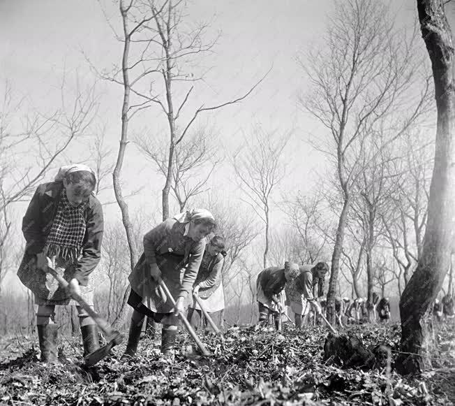
{"label": "leaf-covered forest floor under the digging women", "polygon": [[[323,361],[327,329],[283,333],[230,328],[224,340],[201,334],[213,356],[197,355],[179,335],[174,359],[161,358],[158,340],[144,338],[138,356],[123,363],[124,344],[92,368],[81,367],[79,341],[60,339],[61,365],[38,363],[36,338],[0,339],[0,405],[452,405],[455,403],[455,326],[436,334],[433,370],[397,375],[393,360],[400,328],[352,326],[364,345],[391,349],[391,372],[343,369]],[[126,340],[125,340],[126,342]]]}

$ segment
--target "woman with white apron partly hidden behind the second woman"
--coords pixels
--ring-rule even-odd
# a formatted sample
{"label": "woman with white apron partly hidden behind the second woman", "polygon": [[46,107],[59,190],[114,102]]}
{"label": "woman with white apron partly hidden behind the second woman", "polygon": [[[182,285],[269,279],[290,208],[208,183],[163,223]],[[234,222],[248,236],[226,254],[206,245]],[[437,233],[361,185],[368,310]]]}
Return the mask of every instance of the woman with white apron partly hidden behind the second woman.
{"label": "woman with white apron partly hidden behind the second woman", "polygon": [[[221,270],[223,269],[224,257],[226,255],[225,240],[220,235],[214,235],[205,246],[204,256],[193,285],[193,293],[196,293],[204,309],[213,315],[224,309],[224,292],[221,282]],[[197,316],[197,317],[196,317]],[[188,321],[191,326],[197,329],[202,324],[202,310],[193,299],[188,308]]]}

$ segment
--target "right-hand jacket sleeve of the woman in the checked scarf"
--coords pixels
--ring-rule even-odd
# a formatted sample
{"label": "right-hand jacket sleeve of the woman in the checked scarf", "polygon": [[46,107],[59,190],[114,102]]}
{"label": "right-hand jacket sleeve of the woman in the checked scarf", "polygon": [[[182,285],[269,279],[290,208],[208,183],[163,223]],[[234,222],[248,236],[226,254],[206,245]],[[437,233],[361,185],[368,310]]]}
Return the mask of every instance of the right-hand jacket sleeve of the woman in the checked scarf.
{"label": "right-hand jacket sleeve of the woman in the checked scarf", "polygon": [[94,207],[89,210],[87,219],[86,238],[82,247],[82,259],[75,267],[75,278],[81,283],[89,276],[101,259],[101,242],[103,241],[104,219],[103,208],[96,201]]}

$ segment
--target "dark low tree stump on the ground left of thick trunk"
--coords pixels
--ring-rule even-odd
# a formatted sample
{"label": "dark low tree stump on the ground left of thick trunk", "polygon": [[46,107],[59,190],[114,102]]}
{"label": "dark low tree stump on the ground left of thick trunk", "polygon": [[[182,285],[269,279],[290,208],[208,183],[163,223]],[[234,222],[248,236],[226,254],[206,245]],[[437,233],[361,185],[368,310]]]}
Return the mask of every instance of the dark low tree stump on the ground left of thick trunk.
{"label": "dark low tree stump on the ground left of thick trunk", "polygon": [[324,360],[331,360],[343,368],[371,369],[375,365],[375,355],[355,334],[329,333],[324,343]]}

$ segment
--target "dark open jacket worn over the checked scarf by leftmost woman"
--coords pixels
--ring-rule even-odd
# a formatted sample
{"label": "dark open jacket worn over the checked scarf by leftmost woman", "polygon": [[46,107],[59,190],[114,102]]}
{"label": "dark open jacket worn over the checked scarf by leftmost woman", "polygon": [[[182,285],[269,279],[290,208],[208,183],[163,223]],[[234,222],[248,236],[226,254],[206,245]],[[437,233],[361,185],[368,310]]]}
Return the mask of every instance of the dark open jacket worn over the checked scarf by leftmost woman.
{"label": "dark open jacket worn over the checked scarf by leftmost woman", "polygon": [[[50,182],[40,184],[36,188],[22,219],[22,233],[27,242],[25,254],[31,256],[43,251],[57,214],[63,187],[63,182]],[[74,277],[82,286],[87,286],[89,275],[101,258],[104,229],[103,209],[94,195],[89,197],[84,219],[86,230],[82,241],[82,258],[75,264]]]}

